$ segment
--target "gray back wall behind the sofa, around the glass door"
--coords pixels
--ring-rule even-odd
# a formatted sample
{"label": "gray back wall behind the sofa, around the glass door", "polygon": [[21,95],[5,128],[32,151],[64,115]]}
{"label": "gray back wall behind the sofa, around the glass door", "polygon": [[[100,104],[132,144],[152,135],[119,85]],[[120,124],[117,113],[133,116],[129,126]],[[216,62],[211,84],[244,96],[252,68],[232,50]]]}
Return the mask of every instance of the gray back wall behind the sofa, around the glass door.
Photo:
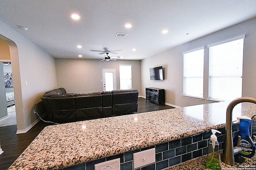
{"label": "gray back wall behind the sofa, around the glass door", "polygon": [[140,93],[140,61],[100,61],[93,59],[55,59],[58,87],[68,93],[101,92],[102,68],[116,69],[116,88],[120,89],[119,64],[132,64],[132,88]]}

